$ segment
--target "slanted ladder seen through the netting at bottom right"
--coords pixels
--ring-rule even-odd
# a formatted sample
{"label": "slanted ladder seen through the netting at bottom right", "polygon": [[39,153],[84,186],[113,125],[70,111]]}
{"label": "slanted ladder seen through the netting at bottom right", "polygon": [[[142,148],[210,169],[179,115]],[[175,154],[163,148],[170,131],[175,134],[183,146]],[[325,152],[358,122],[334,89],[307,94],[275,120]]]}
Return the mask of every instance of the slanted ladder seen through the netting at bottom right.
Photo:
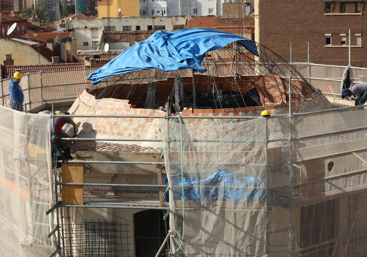
{"label": "slanted ladder seen through the netting at bottom right", "polygon": [[[342,256],[345,256],[345,254],[348,252],[348,245],[350,242],[350,238],[353,232],[354,225],[356,223],[361,198],[362,197],[358,195],[349,196],[348,204],[347,204],[347,207],[345,208],[343,221],[341,223],[341,228],[339,229],[338,239],[335,242],[333,255],[331,257],[334,257],[334,256],[342,257]],[[353,203],[355,202],[357,202],[357,204],[356,206],[353,206]],[[343,225],[346,225],[346,227],[343,227]],[[343,239],[346,239],[346,240],[343,240]],[[339,249],[340,251],[337,250],[338,247],[340,248]]]}

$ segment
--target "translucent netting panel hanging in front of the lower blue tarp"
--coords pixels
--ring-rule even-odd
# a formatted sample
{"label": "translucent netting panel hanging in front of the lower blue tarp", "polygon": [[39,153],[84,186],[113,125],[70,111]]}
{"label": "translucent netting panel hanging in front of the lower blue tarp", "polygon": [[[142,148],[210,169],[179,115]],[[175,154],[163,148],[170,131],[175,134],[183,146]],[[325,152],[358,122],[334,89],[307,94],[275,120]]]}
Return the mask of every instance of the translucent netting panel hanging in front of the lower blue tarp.
{"label": "translucent netting panel hanging in front of the lower blue tarp", "polygon": [[205,127],[182,125],[185,201],[180,124],[176,119],[161,127],[168,127],[173,141],[164,153],[171,187],[172,250],[181,244],[184,204],[184,242],[178,256],[264,253],[265,227],[260,224],[266,219],[265,119]]}

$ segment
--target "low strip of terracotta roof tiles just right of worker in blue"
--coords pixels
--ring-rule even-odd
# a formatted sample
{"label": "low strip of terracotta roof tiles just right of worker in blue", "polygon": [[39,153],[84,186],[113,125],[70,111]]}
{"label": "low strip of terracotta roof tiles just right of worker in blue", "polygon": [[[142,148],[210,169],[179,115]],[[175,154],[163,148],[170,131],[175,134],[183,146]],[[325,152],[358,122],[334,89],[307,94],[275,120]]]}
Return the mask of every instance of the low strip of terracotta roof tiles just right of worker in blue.
{"label": "low strip of terracotta roof tiles just right of worker in blue", "polygon": [[43,64],[43,65],[14,65],[14,66],[3,66],[4,74],[3,79],[12,77],[15,70],[21,69],[22,74],[35,73],[42,71],[58,71],[58,70],[77,70],[83,69],[84,63],[63,63],[63,64]]}

